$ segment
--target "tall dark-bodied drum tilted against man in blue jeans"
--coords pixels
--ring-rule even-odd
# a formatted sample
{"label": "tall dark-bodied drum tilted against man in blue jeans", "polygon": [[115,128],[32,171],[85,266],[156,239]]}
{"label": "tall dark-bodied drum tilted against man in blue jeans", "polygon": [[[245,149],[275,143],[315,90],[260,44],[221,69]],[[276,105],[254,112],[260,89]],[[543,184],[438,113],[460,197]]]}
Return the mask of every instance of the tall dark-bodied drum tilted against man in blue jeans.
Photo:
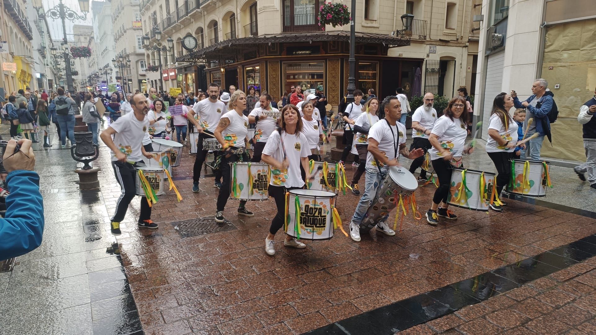
{"label": "tall dark-bodied drum tilted against man in blue jeans", "polygon": [[389,172],[379,185],[373,203],[368,207],[362,225],[372,228],[385,221],[399,203],[399,196],[409,196],[417,188],[418,182],[408,169],[403,166],[390,166]]}

